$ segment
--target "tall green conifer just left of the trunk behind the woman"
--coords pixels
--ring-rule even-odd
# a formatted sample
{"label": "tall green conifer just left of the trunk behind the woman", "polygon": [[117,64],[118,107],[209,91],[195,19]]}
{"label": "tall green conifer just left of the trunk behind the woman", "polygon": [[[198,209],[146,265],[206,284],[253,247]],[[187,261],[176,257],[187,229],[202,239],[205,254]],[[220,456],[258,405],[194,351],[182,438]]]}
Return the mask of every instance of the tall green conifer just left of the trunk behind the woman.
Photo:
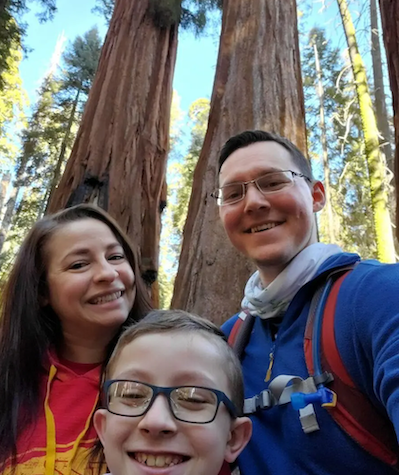
{"label": "tall green conifer just left of the trunk behind the woman", "polygon": [[39,88],[38,100],[21,134],[12,199],[2,222],[2,232],[7,235],[0,258],[3,271],[33,222],[45,211],[50,190],[56,183],[55,172],[62,170],[72,148],[100,50],[100,38],[93,28],[76,38],[66,51],[59,77],[50,73]]}

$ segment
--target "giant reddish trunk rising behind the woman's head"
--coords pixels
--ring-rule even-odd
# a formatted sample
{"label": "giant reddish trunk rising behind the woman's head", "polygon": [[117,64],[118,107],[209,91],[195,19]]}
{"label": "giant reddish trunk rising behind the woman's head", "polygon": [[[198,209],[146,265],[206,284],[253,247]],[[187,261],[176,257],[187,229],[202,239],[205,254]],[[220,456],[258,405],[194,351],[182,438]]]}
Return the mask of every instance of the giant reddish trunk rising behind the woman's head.
{"label": "giant reddish trunk rising behind the woman's head", "polygon": [[[116,0],[80,129],[49,212],[95,202],[139,247],[156,278],[177,24],[149,0]],[[151,9],[150,9],[151,4]]]}

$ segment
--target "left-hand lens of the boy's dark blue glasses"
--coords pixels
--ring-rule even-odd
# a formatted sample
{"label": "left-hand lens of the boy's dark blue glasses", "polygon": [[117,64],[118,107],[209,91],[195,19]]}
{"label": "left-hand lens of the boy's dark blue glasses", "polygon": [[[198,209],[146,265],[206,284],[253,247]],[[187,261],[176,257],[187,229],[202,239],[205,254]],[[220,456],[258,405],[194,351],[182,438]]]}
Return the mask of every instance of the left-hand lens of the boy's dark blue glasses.
{"label": "left-hand lens of the boy's dark blue glasses", "polygon": [[151,402],[152,389],[135,381],[115,381],[108,389],[108,409],[121,416],[140,416]]}

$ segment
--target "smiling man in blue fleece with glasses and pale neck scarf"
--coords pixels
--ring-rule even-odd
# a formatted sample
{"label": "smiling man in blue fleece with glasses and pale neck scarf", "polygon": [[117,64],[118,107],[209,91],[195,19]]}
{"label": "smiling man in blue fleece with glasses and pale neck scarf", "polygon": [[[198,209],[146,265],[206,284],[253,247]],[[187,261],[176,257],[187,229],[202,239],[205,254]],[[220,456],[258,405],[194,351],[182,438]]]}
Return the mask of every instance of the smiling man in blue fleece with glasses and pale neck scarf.
{"label": "smiling man in blue fleece with glasses and pale neck scarf", "polygon": [[[282,137],[247,131],[228,140],[219,159],[215,196],[227,236],[258,269],[242,301],[243,310],[255,315],[242,355],[246,398],[253,398],[280,375],[309,377],[304,334],[316,283],[332,269],[354,265],[360,258],[317,242],[314,213],[324,206],[324,187],[313,179],[302,153]],[[392,422],[396,434],[398,284],[398,265],[358,263],[342,283],[334,320],[344,367],[378,417],[381,414],[387,426]],[[240,316],[224,324],[226,334]],[[252,439],[239,458],[241,474],[397,473],[390,465],[394,461],[385,463],[362,448],[321,404],[312,410],[318,429],[306,433],[290,402],[258,407],[251,416]],[[363,439],[367,445],[367,437]]]}

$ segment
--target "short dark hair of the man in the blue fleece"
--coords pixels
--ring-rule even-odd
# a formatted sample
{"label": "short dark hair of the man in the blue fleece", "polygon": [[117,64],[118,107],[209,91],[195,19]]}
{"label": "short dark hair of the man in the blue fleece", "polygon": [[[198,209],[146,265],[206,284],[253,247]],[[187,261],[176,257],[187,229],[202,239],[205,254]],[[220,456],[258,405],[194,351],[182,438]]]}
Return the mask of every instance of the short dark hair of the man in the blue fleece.
{"label": "short dark hair of the man in the blue fleece", "polygon": [[218,172],[220,173],[223,163],[233,152],[256,142],[276,142],[280,144],[286,150],[288,150],[299,171],[313,180],[310,162],[299,150],[299,148],[288,139],[272,132],[266,132],[264,130],[246,130],[245,132],[241,132],[229,138],[229,140],[223,145],[223,148],[220,152]]}

